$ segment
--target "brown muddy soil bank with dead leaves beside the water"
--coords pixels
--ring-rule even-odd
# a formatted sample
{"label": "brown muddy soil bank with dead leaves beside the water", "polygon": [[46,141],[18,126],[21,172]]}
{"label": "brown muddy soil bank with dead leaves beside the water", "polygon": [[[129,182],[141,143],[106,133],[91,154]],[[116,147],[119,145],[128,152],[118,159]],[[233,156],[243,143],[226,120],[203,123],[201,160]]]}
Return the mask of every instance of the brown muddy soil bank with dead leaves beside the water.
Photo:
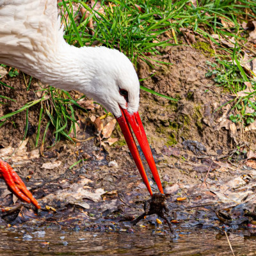
{"label": "brown muddy soil bank with dead leaves beside the water", "polygon": [[[232,113],[232,106],[220,108],[232,96],[205,77],[209,69],[205,61],[214,62],[211,57],[189,46],[172,46],[159,51],[162,55],[152,58],[170,65],[152,68],[140,61],[138,76],[140,79],[151,76],[143,81],[143,86],[179,99],[179,102],[141,91],[139,111],[164,192],[168,195],[173,225],[175,228],[187,225],[227,230],[254,228],[255,220],[244,216],[244,209],[255,211],[256,170],[246,165],[248,152],[255,150],[255,133],[241,131],[239,127],[234,129],[227,118]],[[0,95],[16,102],[3,100],[6,104],[0,105],[0,116],[38,99],[40,92],[36,91],[44,86],[32,79],[27,90],[29,77],[22,72],[17,77],[5,76],[1,81],[15,89],[1,86]],[[79,97],[76,92],[72,95]],[[102,109],[88,113],[77,110],[76,138],[79,142],[74,144],[63,138],[54,147],[47,147],[53,143],[53,134],[49,132],[43,154],[35,148],[39,111],[38,106],[29,108],[29,131],[22,146],[26,111],[12,116],[0,128],[0,157],[16,167],[20,177],[29,176],[26,185],[42,205],[39,213],[28,205],[22,206],[18,217],[9,223],[15,227],[30,223],[36,227],[115,229],[121,227],[123,221],[134,220],[143,213],[148,192],[120,129],[116,127],[112,134],[118,141],[109,146],[104,141],[100,143],[90,119],[93,115],[104,115]],[[111,119],[113,116],[108,116],[104,124]],[[45,118],[40,140],[46,123]],[[70,168],[81,159],[86,160]],[[109,166],[114,160],[117,166]],[[157,193],[149,172],[148,177]],[[2,207],[20,203],[8,192],[4,182],[0,183],[0,193]],[[223,211],[228,217],[222,217]],[[156,216],[148,217],[143,223],[146,227],[157,227]],[[8,225],[6,220],[1,220],[1,224]]]}

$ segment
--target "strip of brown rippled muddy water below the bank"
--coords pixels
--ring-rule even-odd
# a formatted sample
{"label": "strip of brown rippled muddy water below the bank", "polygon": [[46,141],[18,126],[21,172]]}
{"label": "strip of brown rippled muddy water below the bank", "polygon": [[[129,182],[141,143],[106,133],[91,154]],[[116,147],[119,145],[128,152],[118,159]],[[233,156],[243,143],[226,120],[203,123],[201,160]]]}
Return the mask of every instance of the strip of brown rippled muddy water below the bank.
{"label": "strip of brown rippled muddy water below the bank", "polygon": [[[228,234],[235,255],[256,255],[256,236]],[[62,231],[52,228],[0,231],[0,255],[232,255],[224,234],[216,230],[182,230],[172,240],[166,233]]]}

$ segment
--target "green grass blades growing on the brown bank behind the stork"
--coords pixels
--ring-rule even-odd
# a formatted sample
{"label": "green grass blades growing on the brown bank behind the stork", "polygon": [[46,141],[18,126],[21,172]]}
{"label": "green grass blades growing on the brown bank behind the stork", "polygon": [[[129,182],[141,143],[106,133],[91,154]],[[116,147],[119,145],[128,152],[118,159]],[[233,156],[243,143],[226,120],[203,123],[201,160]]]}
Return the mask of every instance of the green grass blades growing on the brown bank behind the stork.
{"label": "green grass blades growing on the brown bank behind the stork", "polygon": [[[75,12],[72,3],[76,3],[79,8],[85,8],[89,13],[88,17],[84,19],[79,8]],[[100,12],[95,6],[91,8],[84,1],[63,0],[59,3],[61,20],[65,25],[64,38],[68,44],[77,47],[104,45],[119,49],[131,59],[135,67],[141,59],[153,68],[154,65],[166,64],[154,59],[155,55],[161,54],[159,47],[178,44],[177,36],[182,35],[182,29],[186,28],[189,33],[195,35],[196,42],[207,42],[210,47],[214,45],[214,49],[211,48],[211,54],[212,52],[215,54],[217,64],[208,63],[209,72],[206,76],[212,77],[218,86],[223,86],[230,93],[237,94],[244,90],[246,88],[244,82],[248,81],[252,83],[253,90],[256,89],[252,73],[245,71],[241,66],[244,44],[248,38],[248,31],[245,31],[241,24],[248,19],[255,19],[255,1],[202,0],[199,1],[198,6],[193,6],[191,1],[185,0],[114,0],[102,1],[101,5],[104,12]],[[90,20],[93,21],[93,27],[88,28],[86,25]],[[221,44],[220,40],[214,39],[216,35],[227,41],[234,37],[235,47],[228,48]],[[249,51],[253,52],[253,49]],[[161,93],[157,94],[144,86],[141,86],[141,89],[159,97],[175,100]],[[233,100],[234,108],[239,116],[230,116],[230,120],[243,122],[244,125],[255,120],[255,112],[250,115],[246,113],[246,108],[256,111],[254,95],[253,92],[243,97],[237,96]],[[6,118],[20,111],[28,111],[35,104],[40,104],[36,145],[40,138],[40,125],[45,116],[49,118],[47,129],[50,124],[54,126],[55,143],[60,140],[61,136],[72,140],[69,134],[72,131],[76,133],[75,109],[79,108],[77,100],[73,100],[69,93],[52,87],[45,90],[42,99],[29,102],[18,111],[2,116],[0,120],[4,121],[0,125],[4,124]],[[43,143],[47,129],[44,131]]]}

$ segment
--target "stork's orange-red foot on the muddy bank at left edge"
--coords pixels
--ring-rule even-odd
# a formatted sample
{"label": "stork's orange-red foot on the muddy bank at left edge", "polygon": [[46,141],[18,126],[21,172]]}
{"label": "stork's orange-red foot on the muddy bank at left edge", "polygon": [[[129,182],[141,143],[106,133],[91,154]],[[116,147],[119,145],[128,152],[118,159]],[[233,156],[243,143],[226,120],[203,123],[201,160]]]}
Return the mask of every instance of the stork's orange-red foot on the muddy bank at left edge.
{"label": "stork's orange-red foot on the muddy bank at left edge", "polygon": [[12,191],[17,198],[27,202],[28,204],[33,204],[37,209],[40,209],[40,205],[33,197],[31,192],[26,188],[24,182],[20,179],[19,175],[13,170],[13,168],[0,159],[0,178],[4,179],[6,185]]}

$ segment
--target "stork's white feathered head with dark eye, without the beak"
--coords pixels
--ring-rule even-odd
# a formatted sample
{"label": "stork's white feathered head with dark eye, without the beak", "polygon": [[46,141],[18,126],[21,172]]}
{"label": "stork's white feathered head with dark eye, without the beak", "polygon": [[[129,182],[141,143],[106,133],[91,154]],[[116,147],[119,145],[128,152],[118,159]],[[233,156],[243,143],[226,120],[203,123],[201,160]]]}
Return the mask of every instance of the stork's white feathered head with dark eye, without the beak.
{"label": "stork's white feathered head with dark eye, without the beak", "polygon": [[90,54],[92,90],[87,94],[116,117],[122,115],[120,107],[129,113],[138,111],[140,83],[131,61],[122,52],[106,47],[90,47]]}

